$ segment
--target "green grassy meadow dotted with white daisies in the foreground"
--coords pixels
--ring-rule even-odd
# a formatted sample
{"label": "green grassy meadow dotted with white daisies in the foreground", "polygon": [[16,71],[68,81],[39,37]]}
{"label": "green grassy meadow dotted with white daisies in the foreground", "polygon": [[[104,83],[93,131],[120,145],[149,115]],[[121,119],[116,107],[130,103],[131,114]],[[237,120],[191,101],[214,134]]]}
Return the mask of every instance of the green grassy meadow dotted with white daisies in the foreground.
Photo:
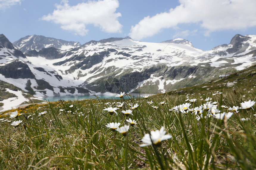
{"label": "green grassy meadow dotted with white daisies in the foreground", "polygon": [[[253,66],[147,99],[128,94],[130,100],[57,101],[5,112],[1,168],[255,169],[255,71]],[[241,108],[249,100],[252,104]],[[117,102],[123,107],[108,112]],[[121,112],[135,104],[131,114]],[[19,115],[10,118],[15,111]],[[138,124],[132,126],[129,118]],[[14,120],[22,122],[11,125]],[[106,126],[112,122],[120,123],[122,133]]]}

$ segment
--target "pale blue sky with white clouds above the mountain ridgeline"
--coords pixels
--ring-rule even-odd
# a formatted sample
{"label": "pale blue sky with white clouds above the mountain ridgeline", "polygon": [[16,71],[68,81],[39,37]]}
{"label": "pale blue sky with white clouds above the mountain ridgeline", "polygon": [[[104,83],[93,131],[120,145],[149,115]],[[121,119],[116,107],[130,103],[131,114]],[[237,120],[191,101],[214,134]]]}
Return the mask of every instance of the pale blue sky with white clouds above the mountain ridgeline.
{"label": "pale blue sky with white clouds above the mountain ridgeline", "polygon": [[183,38],[210,50],[235,34],[255,35],[255,7],[255,0],[0,0],[0,34],[11,42],[36,34],[81,44]]}

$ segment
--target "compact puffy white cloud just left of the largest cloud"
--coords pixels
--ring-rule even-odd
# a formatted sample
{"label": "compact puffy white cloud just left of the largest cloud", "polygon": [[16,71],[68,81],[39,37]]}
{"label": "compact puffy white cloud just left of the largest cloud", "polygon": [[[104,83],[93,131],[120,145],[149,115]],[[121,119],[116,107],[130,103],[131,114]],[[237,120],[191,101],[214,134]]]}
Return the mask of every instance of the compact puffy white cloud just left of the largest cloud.
{"label": "compact puffy white cloud just left of the largest cloud", "polygon": [[121,32],[122,25],[118,22],[121,13],[116,13],[119,7],[118,0],[99,0],[82,2],[76,6],[70,6],[67,0],[56,4],[52,14],[44,15],[42,20],[60,24],[62,29],[74,31],[86,35],[86,25],[93,24],[95,27],[107,33]]}

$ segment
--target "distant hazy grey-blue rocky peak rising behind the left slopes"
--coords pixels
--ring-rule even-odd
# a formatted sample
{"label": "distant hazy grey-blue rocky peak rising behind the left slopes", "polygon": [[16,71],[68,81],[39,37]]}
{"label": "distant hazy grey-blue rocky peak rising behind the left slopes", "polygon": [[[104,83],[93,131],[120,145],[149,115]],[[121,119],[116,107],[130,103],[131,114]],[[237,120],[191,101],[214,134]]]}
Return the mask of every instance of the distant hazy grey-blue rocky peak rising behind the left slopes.
{"label": "distant hazy grey-blue rocky peak rising behind the left slopes", "polygon": [[23,53],[27,53],[31,50],[40,51],[43,48],[49,47],[54,47],[59,50],[70,50],[81,46],[79,42],[64,41],[62,39],[45,37],[42,35],[25,36],[18,41],[15,41],[13,45]]}

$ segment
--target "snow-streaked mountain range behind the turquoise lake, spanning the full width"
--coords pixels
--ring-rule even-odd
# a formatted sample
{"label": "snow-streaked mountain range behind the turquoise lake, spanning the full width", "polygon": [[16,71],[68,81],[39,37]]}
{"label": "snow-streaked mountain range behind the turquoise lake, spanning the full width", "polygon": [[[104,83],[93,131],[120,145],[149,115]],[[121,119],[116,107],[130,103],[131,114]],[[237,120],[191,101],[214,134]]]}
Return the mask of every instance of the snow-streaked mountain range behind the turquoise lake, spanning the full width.
{"label": "snow-streaked mountain range behind the turquoise lake, spanning the full width", "polygon": [[[237,34],[230,44],[208,51],[184,39],[150,43],[125,37],[90,41],[71,50],[32,49],[26,56],[6,37],[0,42],[0,80],[36,97],[118,92],[118,88],[163,93],[218,79],[256,59],[256,35]],[[29,40],[22,45],[32,46]]]}

